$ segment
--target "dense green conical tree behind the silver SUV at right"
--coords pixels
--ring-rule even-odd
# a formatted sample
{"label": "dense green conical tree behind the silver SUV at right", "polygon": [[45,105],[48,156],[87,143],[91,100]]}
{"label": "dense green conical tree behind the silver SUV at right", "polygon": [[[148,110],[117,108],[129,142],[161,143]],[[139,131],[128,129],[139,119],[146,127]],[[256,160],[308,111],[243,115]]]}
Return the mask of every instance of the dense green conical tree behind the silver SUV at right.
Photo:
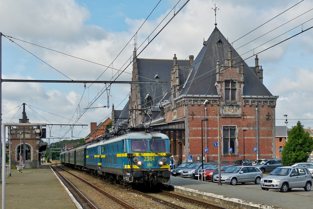
{"label": "dense green conical tree behind the silver SUV at right", "polygon": [[288,142],[281,152],[281,162],[284,166],[306,162],[313,150],[313,139],[305,132],[300,121],[288,131]]}

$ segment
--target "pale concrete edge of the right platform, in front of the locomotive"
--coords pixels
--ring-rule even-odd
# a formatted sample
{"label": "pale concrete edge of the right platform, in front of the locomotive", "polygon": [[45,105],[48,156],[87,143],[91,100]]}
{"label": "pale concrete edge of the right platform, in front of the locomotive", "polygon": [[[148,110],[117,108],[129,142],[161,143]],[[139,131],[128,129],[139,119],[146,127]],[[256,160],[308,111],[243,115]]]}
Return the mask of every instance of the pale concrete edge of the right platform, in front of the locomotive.
{"label": "pale concrete edge of the right platform, in front of the locomotive", "polygon": [[263,205],[259,203],[240,200],[237,198],[230,198],[223,195],[217,195],[213,193],[203,192],[199,190],[190,189],[187,187],[171,185],[173,191],[182,193],[185,195],[196,196],[209,201],[215,201],[219,203],[225,203],[233,206],[237,206],[243,209],[282,209],[274,206]]}

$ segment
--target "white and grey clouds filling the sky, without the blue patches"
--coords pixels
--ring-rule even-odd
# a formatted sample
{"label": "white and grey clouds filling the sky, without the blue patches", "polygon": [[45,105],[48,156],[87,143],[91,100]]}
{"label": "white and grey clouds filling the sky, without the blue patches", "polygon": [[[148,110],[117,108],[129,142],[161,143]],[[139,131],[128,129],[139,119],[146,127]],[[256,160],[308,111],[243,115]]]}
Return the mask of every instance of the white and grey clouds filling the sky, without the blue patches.
{"label": "white and grey clouds filling the sky, without the blue patches", "polygon": [[[174,2],[172,3],[174,4]],[[173,54],[177,54],[178,59],[185,59],[188,55],[197,56],[202,47],[203,37],[207,39],[214,28],[215,18],[214,11],[212,10],[214,3],[213,1],[204,0],[190,1],[139,57],[172,59]],[[218,8],[220,8],[220,10],[217,11],[217,26],[224,36],[227,37],[230,42],[233,42],[297,2],[217,1],[216,3]],[[275,5],[273,6],[273,4]],[[280,17],[275,18],[273,21],[247,35],[245,38],[235,42],[233,47],[240,47],[312,7],[313,2],[305,1],[300,3],[290,10],[290,12],[286,12]],[[176,11],[177,10],[176,8]],[[165,17],[166,13],[156,19],[148,19],[138,33],[139,44],[144,41],[147,35],[149,35],[156,25]],[[85,21],[90,18],[90,15],[90,12],[86,8],[79,6],[73,0],[45,2],[35,0],[0,1],[0,18],[2,20],[0,22],[0,28],[2,33],[103,65],[109,65],[111,63],[129,41],[133,33],[142,24],[144,18],[146,18],[126,18],[125,22],[130,26],[129,31],[107,32],[97,25],[86,25]],[[172,16],[172,14],[170,16]],[[303,23],[305,20],[310,19],[311,16],[312,12],[309,12],[253,43],[240,48],[238,50],[239,54],[243,54],[251,48],[255,48],[290,28]],[[307,28],[310,23],[311,22],[306,23],[304,29]],[[158,32],[159,29],[157,29],[156,32]],[[156,32],[154,34],[156,34]],[[298,32],[300,32],[300,28],[255,49],[255,52],[261,51]],[[154,34],[149,38],[150,40]],[[300,62],[301,66],[298,66],[297,69],[290,66],[288,62],[299,62],[299,60],[289,59],[287,62],[285,56],[286,53],[290,53],[290,50],[293,50],[294,47],[297,48],[297,52],[295,53],[305,53],[306,56],[310,56],[313,48],[313,42],[311,40],[312,35],[313,32],[311,31],[305,32],[259,56],[260,63],[264,69],[264,80],[268,80],[269,74],[271,75],[271,82],[273,84],[267,87],[272,94],[280,95],[280,99],[277,101],[277,107],[281,112],[290,112],[288,113],[290,116],[294,114],[293,116],[295,118],[300,117],[300,115],[302,117],[311,117],[310,115],[313,115],[310,111],[310,98],[312,98],[310,83],[313,78],[313,73],[311,69],[308,69],[308,64],[302,64],[303,61]],[[74,80],[97,79],[106,69],[106,67],[103,66],[70,58],[52,51],[47,51],[46,49],[31,46],[27,43],[16,42]],[[133,41],[128,44],[125,51],[116,59],[113,68],[120,69],[125,62],[126,65],[130,63],[129,58],[134,48],[132,43]],[[3,44],[6,44],[6,47],[9,49],[16,47],[14,43],[8,42],[5,38],[3,38]],[[143,46],[145,46],[145,44]],[[139,51],[141,51],[142,48],[143,47],[139,48]],[[63,75],[51,69],[46,64],[42,64],[39,61],[38,64],[34,61],[27,61],[30,59],[30,56],[23,54],[23,52],[21,53],[20,49],[17,51],[19,53],[18,55],[22,54],[22,58],[9,63],[11,64],[10,70],[3,67],[3,78],[22,79],[29,76],[32,79],[66,79]],[[252,55],[252,52],[243,55],[243,58],[250,55]],[[301,56],[299,55],[299,57]],[[282,60],[284,60],[285,63],[282,62]],[[29,65],[28,62],[32,64]],[[254,60],[252,59],[251,61],[249,60],[249,62],[254,64]],[[296,76],[286,75],[282,77],[286,68],[290,68]],[[116,71],[113,70],[113,74],[115,74],[115,72]],[[131,72],[131,66],[126,69],[126,72]],[[100,77],[101,80],[110,80],[111,78],[112,69],[106,70]],[[123,73],[119,78],[119,80],[130,79],[130,74],[126,73]],[[89,86],[88,84],[86,85],[87,87]],[[38,83],[6,83],[3,85],[2,111],[11,110],[25,102],[40,109],[57,113],[66,118],[71,118],[74,115],[73,118],[75,120],[77,113],[83,111],[86,104],[90,102],[104,86],[103,84],[94,84],[89,89],[85,89],[82,99],[83,105],[80,103],[78,107],[78,102],[84,91],[83,84],[58,84],[53,86]],[[21,91],[21,89],[23,89],[23,91]],[[127,100],[129,91],[129,85],[112,85],[110,90],[112,95],[110,96],[110,105],[114,103],[116,107],[125,97]],[[303,108],[299,108],[299,104],[297,104],[299,98],[303,99],[303,102],[301,102]],[[107,105],[106,92],[102,94],[93,107],[104,105]],[[123,108],[124,105],[125,104],[122,102],[118,109]],[[8,121],[11,120],[15,114],[14,111],[5,114],[3,116],[4,119]],[[28,110],[28,114],[30,114],[31,111],[32,110]],[[31,114],[32,121],[42,120],[37,114]],[[40,111],[39,114],[52,123],[68,122],[68,120],[43,111]],[[20,113],[18,113],[18,115],[20,116]],[[110,115],[110,109],[90,109],[79,121],[89,124],[90,122],[104,119],[106,115]]]}

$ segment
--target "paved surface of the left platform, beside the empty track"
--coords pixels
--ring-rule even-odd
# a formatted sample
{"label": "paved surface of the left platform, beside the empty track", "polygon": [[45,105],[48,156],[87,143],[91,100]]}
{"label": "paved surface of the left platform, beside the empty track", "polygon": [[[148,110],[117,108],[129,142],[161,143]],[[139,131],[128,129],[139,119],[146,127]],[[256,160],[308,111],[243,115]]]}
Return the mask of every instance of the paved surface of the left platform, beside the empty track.
{"label": "paved surface of the left platform, beside the empty track", "polygon": [[12,169],[11,176],[6,178],[6,208],[77,209],[48,164],[22,173]]}

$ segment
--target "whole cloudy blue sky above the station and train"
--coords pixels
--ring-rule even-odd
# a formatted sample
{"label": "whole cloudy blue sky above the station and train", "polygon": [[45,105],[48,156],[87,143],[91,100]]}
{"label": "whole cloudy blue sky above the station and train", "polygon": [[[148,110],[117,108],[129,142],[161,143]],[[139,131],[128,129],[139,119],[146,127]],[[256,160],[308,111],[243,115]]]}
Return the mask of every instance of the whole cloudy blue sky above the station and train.
{"label": "whole cloudy blue sky above the station and train", "polygon": [[[4,35],[91,61],[76,59],[11,38],[13,43],[2,37],[2,78],[115,79],[119,75],[116,69],[124,70],[130,63],[134,49],[134,41],[131,39],[153,8],[157,5],[137,33],[138,47],[143,43],[139,50],[147,44],[146,38],[152,33],[151,40],[173,16],[172,8],[178,1],[161,0],[157,5],[159,0],[0,0],[0,31]],[[212,7],[216,3],[219,8],[217,27],[230,43],[234,42],[233,47],[245,59],[313,26],[313,2],[304,0],[299,3],[300,1],[190,0],[139,57],[172,59],[173,54],[177,54],[178,59],[188,59],[189,55],[196,57],[202,48],[203,38],[207,40],[214,29]],[[185,2],[186,0],[179,1],[175,11]],[[274,18],[296,3],[299,4]],[[153,32],[163,18],[165,22]],[[271,18],[274,19],[249,33]],[[271,30],[273,31],[269,32]],[[235,41],[246,33],[249,34]],[[313,55],[312,35],[313,29],[258,55],[259,64],[264,70],[265,86],[273,95],[280,96],[276,106],[276,125],[285,125],[284,120],[279,119],[288,115],[289,119],[296,119],[289,120],[289,127],[302,119],[305,127],[313,128],[313,71],[310,65]],[[254,40],[255,38],[258,39]],[[250,41],[252,42],[249,43]],[[243,46],[244,44],[246,45]],[[254,58],[246,62],[254,66]],[[131,80],[130,73],[131,68],[126,68],[118,80]],[[19,108],[23,103],[28,105],[26,113],[33,123],[71,124],[78,121],[76,124],[90,125],[90,122],[104,121],[110,116],[111,107],[87,111],[84,108],[91,102],[94,102],[91,107],[107,105],[107,92],[102,90],[105,85],[86,85],[85,88],[84,84],[3,83],[3,122],[18,122],[22,117],[23,109]],[[115,109],[122,109],[129,92],[129,84],[113,84],[109,105],[114,104]],[[69,130],[69,126],[53,126],[51,136],[65,135],[71,138]],[[83,138],[88,133],[90,126],[76,126],[73,130],[74,137]]]}

